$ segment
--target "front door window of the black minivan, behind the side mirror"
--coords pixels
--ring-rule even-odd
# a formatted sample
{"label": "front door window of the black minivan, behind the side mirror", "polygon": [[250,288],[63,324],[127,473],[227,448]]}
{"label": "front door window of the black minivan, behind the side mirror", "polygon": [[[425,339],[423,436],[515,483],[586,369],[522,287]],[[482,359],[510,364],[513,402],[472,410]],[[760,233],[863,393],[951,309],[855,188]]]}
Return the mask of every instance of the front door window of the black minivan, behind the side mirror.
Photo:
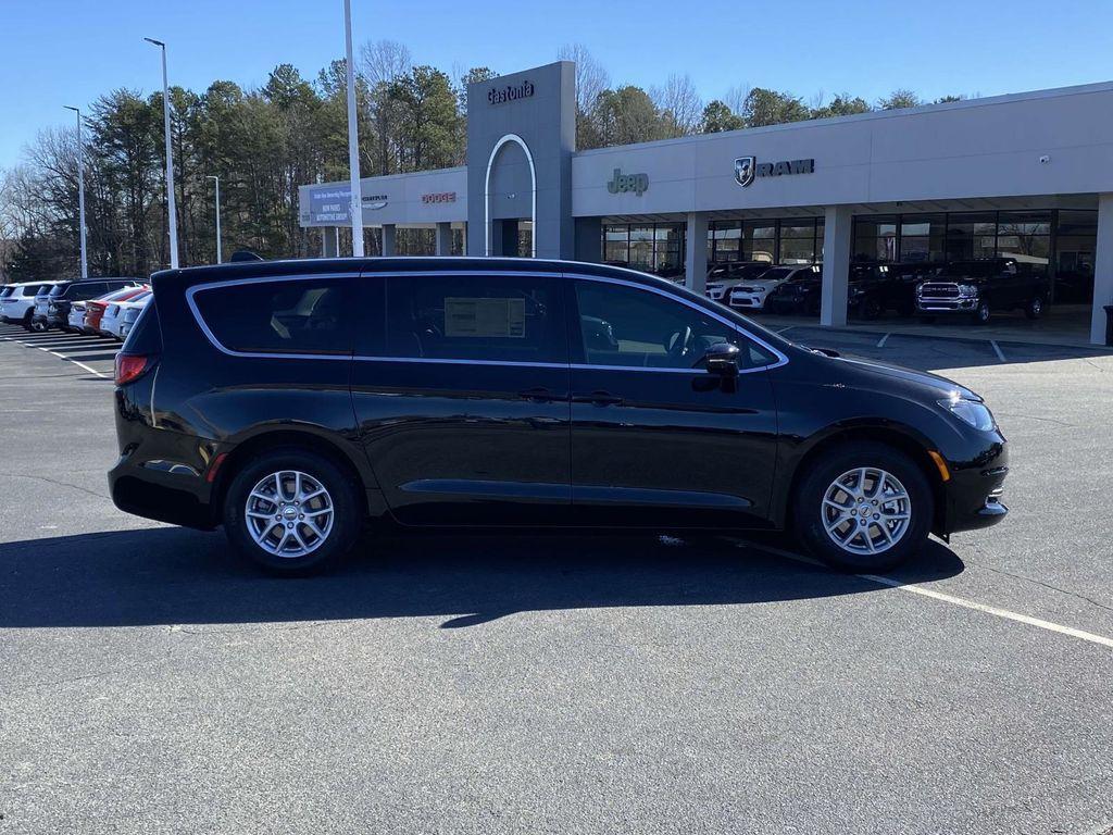
{"label": "front door window of the black minivan, behind the side mirror", "polygon": [[638,287],[580,281],[578,352],[588,365],[697,369],[707,348],[730,342],[741,348],[740,367],[775,362],[738,331],[681,302]]}

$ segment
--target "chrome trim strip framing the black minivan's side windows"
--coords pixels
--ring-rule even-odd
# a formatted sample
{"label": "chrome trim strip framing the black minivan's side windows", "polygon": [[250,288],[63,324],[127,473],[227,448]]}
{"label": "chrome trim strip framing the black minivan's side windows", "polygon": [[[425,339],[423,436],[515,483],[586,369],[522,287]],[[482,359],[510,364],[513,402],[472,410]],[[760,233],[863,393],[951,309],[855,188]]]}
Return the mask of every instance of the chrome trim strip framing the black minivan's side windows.
{"label": "chrome trim strip framing the black minivan's side windows", "polygon": [[[523,259],[525,261],[525,259]],[[220,289],[223,287],[232,287],[240,284],[265,284],[274,282],[305,282],[305,281],[321,281],[327,278],[345,278],[349,281],[358,281],[363,276],[376,276],[383,278],[427,278],[427,277],[440,277],[444,276],[446,273],[451,272],[452,275],[460,276],[491,276],[492,274],[505,275],[505,276],[519,276],[526,278],[565,278],[572,281],[589,281],[599,282],[602,284],[618,284],[620,286],[633,287],[634,289],[646,291],[648,293],[654,293],[663,298],[669,298],[673,302],[678,302],[688,307],[691,307],[698,313],[702,313],[711,318],[717,320],[721,324],[735,331],[742,337],[756,342],[758,345],[767,350],[769,353],[777,357],[777,362],[769,363],[767,365],[758,365],[754,369],[740,369],[739,374],[752,374],[759,371],[770,371],[772,369],[780,367],[788,363],[788,357],[780,351],[775,348],[772,345],[767,343],[759,336],[755,336],[752,333],[741,327],[730,320],[720,316],[715,311],[708,310],[695,301],[683,298],[673,293],[668,292],[661,287],[653,287],[651,285],[641,284],[639,282],[629,281],[626,278],[613,278],[611,276],[601,275],[588,275],[583,273],[556,273],[546,271],[528,271],[528,269],[456,269],[456,271],[444,271],[444,269],[417,269],[417,271],[390,271],[390,272],[347,272],[347,273],[311,273],[311,274],[298,274],[298,275],[274,275],[274,276],[255,276],[253,278],[229,278],[223,282],[211,282],[207,284],[196,284],[193,287],[186,289],[186,304],[189,306],[190,312],[194,315],[194,321],[197,326],[205,334],[205,337],[209,343],[223,354],[228,356],[242,357],[245,360],[341,360],[348,362],[356,360],[359,362],[395,362],[395,363],[423,363],[423,364],[439,364],[439,365],[496,365],[496,366],[513,366],[513,367],[536,367],[536,369],[574,369],[578,371],[633,371],[633,372],[656,372],[662,374],[691,374],[692,372],[701,371],[700,369],[654,369],[643,365],[592,365],[590,363],[545,363],[545,362],[518,362],[518,361],[503,361],[503,360],[464,360],[464,358],[436,358],[436,357],[424,357],[424,356],[370,356],[365,354],[297,354],[297,353],[282,353],[282,352],[259,352],[259,351],[235,351],[221,344],[216,337],[216,334],[209,328],[208,324],[205,322],[204,316],[201,316],[200,311],[197,307],[197,302],[195,296],[198,293],[204,293],[208,289]]]}

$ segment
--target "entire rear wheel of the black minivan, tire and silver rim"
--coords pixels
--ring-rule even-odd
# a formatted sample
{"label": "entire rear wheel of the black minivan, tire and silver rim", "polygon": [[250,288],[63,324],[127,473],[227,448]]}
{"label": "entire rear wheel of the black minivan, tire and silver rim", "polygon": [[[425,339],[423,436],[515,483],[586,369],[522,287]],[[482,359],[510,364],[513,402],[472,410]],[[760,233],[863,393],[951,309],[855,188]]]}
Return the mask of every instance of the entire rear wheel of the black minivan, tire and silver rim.
{"label": "entire rear wheel of the black minivan, tire and silver rim", "polygon": [[316,573],[351,550],[363,521],[357,485],[327,458],[276,449],[233,478],[224,529],[243,556],[285,576]]}

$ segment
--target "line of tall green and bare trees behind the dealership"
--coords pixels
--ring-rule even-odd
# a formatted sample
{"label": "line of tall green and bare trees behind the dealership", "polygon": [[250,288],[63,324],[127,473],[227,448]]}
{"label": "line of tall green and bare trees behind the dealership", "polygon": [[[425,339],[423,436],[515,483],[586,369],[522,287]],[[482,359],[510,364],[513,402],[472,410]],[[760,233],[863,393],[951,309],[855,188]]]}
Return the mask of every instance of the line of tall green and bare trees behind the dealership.
{"label": "line of tall green and bare trees behind the dealership", "polygon": [[[687,76],[649,89],[612,86],[583,47],[565,47],[559,57],[577,62],[581,149],[922,104],[907,90],[874,104],[846,94],[806,104],[788,92],[741,87],[705,102]],[[450,73],[415,65],[393,41],[364,46],[357,65],[363,176],[464,163],[467,84],[494,77],[492,69]],[[279,65],[258,89],[227,80],[203,92],[171,87],[170,112],[183,265],[215,261],[214,178],[225,252],[304,257],[321,250],[319,232],[298,224],[297,189],[348,175],[344,60],[315,78]],[[85,108],[81,139],[90,274],[146,276],[167,266],[161,91],[105,94]],[[73,127],[40,131],[21,163],[0,171],[0,264],[8,281],[76,274],[77,171]]]}

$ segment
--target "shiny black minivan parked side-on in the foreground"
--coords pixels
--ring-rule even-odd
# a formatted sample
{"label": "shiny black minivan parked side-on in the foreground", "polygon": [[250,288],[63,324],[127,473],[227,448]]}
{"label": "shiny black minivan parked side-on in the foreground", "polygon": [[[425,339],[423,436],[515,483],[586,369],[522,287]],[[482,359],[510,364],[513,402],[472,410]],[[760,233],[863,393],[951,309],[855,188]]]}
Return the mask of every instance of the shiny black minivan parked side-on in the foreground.
{"label": "shiny black minivan parked side-on in the foreground", "polygon": [[117,357],[112,499],[223,524],[276,572],[323,568],[367,520],[788,528],[880,570],[1007,512],[975,393],[630,269],[253,262],[158,273],[154,293]]}

